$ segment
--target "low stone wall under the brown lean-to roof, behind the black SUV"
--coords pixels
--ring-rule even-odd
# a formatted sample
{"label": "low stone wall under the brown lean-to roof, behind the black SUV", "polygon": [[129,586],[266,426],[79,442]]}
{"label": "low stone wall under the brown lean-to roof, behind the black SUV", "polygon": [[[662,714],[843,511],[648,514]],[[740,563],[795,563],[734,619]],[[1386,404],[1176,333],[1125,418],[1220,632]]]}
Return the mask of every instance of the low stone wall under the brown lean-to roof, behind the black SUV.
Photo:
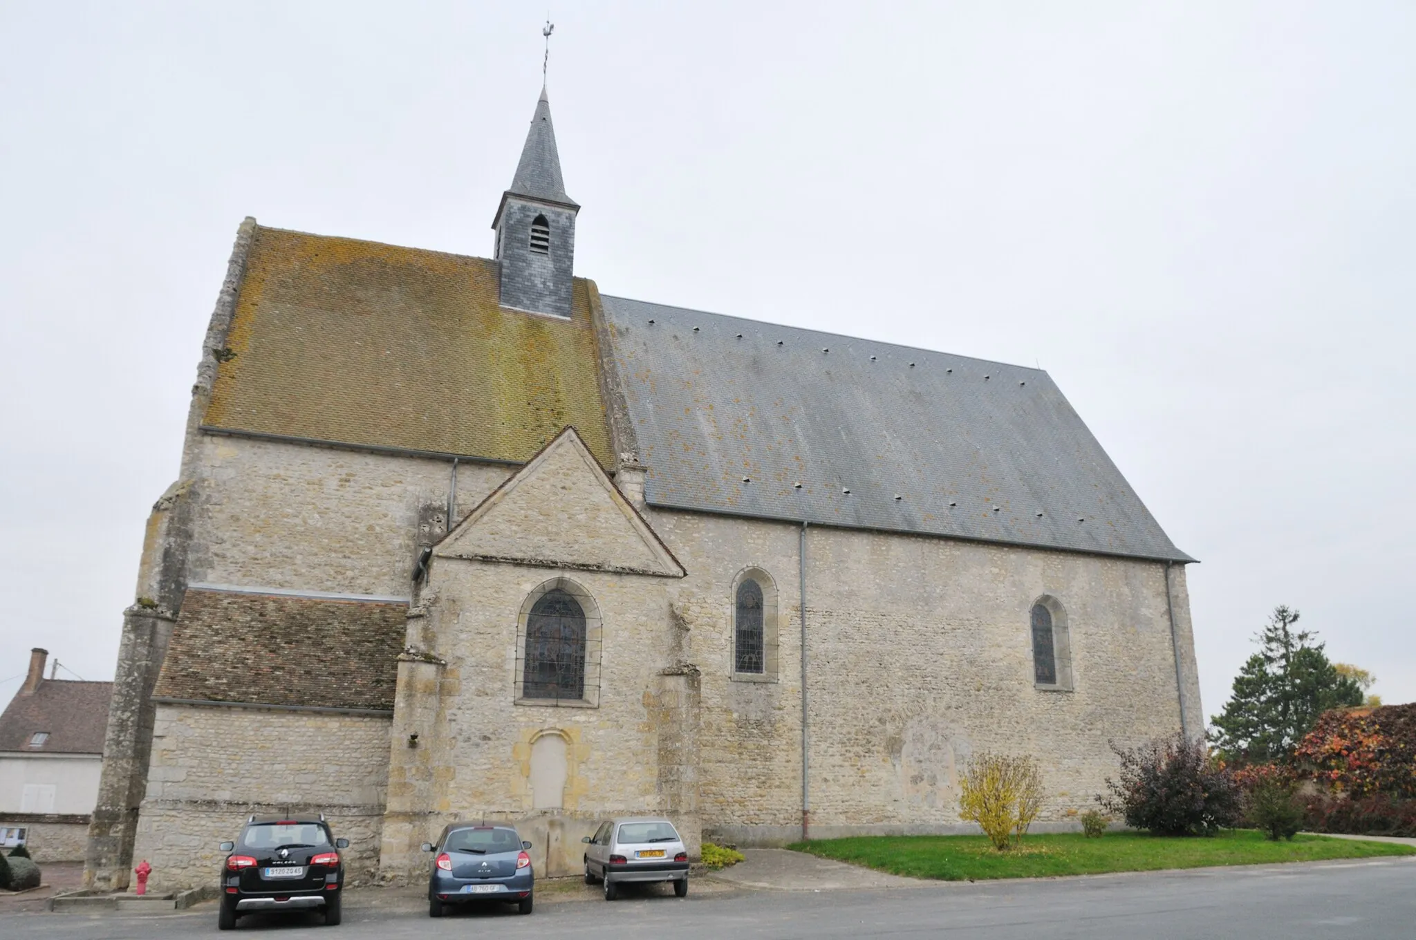
{"label": "low stone wall under the brown lean-to roof, behind the black SUV", "polygon": [[[252,813],[324,813],[350,881],[378,868],[389,718],[159,705],[133,858],[152,889],[211,885]],[[135,861],[136,864],[136,861]]]}

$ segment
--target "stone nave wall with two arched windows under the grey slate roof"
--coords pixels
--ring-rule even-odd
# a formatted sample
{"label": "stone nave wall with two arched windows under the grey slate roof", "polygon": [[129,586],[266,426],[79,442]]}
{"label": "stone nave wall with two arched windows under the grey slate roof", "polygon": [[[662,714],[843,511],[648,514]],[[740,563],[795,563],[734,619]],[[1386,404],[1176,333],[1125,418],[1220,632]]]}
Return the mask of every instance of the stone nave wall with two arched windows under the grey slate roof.
{"label": "stone nave wall with two arched windows under the grey slate roof", "polygon": [[[651,522],[690,572],[674,604],[704,671],[705,832],[799,838],[800,529],[668,511]],[[729,678],[731,586],[746,566],[776,580],[776,684]],[[1073,691],[1034,685],[1029,610],[1044,595],[1066,610]],[[1188,610],[1175,614],[1195,718]],[[983,749],[1037,756],[1039,828],[1069,827],[1116,772],[1109,740],[1180,728],[1158,562],[811,528],[807,631],[816,837],[959,828],[957,774]]]}

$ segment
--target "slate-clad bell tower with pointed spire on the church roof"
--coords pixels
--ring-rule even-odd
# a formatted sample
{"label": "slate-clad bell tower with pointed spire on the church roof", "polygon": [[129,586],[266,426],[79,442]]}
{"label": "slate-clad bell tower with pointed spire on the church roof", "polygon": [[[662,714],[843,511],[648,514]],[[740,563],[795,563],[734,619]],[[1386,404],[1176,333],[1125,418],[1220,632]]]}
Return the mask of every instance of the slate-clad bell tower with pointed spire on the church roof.
{"label": "slate-clad bell tower with pointed spire on the church roof", "polygon": [[542,88],[517,174],[491,219],[503,307],[569,319],[579,211],[579,204],[565,194],[551,103]]}

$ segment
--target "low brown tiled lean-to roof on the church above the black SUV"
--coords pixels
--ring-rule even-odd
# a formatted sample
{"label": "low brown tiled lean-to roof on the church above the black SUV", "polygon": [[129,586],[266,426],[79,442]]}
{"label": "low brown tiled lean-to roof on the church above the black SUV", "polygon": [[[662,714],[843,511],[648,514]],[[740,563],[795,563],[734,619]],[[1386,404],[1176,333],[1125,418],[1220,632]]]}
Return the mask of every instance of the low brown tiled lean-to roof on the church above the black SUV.
{"label": "low brown tiled lean-to roof on the church above the black SUV", "polygon": [[394,708],[408,604],[191,589],[154,695]]}

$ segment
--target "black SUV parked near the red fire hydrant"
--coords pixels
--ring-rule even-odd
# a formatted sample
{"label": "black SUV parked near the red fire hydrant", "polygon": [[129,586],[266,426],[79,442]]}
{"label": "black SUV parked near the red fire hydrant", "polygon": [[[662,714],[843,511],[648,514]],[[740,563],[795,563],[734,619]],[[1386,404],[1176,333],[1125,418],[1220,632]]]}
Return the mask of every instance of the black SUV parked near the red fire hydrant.
{"label": "black SUV parked near the red fire hydrant", "polygon": [[241,838],[222,842],[229,852],[221,868],[221,910],[217,926],[231,930],[236,917],[258,910],[323,910],[324,923],[340,922],[344,861],[338,851],[348,839],[330,832],[319,818],[252,815]]}

